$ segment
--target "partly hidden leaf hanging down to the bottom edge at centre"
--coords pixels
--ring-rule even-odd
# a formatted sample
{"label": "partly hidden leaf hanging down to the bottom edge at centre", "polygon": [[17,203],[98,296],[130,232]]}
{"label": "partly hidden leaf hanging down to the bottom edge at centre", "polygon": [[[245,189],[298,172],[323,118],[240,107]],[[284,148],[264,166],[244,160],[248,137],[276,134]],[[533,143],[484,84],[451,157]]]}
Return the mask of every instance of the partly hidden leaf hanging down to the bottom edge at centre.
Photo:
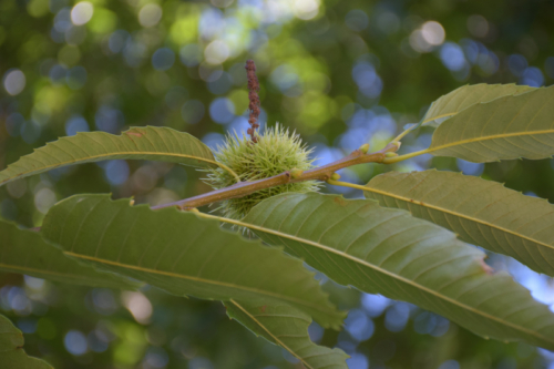
{"label": "partly hidden leaf hanging down to the bottom edge at centre", "polygon": [[227,315],[269,342],[280,346],[296,357],[307,369],[348,369],[346,355],[311,342],[308,326],[311,318],[305,312],[285,305],[263,301],[225,303]]}

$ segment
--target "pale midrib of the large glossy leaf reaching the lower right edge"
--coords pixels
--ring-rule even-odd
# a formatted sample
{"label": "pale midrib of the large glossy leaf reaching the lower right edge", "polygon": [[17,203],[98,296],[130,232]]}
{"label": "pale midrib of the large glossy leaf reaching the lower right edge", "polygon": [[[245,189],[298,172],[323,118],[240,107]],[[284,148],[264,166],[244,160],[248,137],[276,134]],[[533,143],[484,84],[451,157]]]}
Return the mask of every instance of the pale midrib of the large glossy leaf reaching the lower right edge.
{"label": "pale midrib of the large glossy leaf reaching the lower right edge", "polygon": [[428,293],[428,294],[430,294],[430,295],[433,295],[433,296],[435,296],[435,297],[438,297],[438,298],[441,298],[441,299],[443,299],[443,300],[445,300],[445,301],[449,301],[449,303],[451,303],[451,304],[453,304],[453,305],[456,305],[456,306],[459,306],[459,307],[461,307],[461,308],[463,308],[463,309],[466,309],[466,310],[469,310],[469,311],[472,311],[472,312],[474,312],[474,314],[476,314],[476,315],[481,315],[482,317],[484,317],[484,318],[486,318],[486,319],[494,320],[494,321],[500,322],[500,324],[502,324],[502,325],[509,326],[509,327],[511,327],[511,328],[513,328],[513,329],[516,329],[516,330],[523,331],[523,332],[525,332],[525,334],[527,334],[527,335],[534,336],[534,337],[536,337],[536,338],[538,338],[538,339],[543,339],[543,340],[545,340],[545,341],[547,341],[547,342],[554,344],[554,340],[553,340],[553,339],[550,339],[548,337],[545,337],[545,336],[538,335],[538,334],[536,334],[534,330],[529,330],[529,329],[526,329],[526,328],[524,328],[524,327],[521,327],[521,326],[514,325],[514,324],[512,324],[512,322],[510,322],[510,321],[505,321],[505,320],[500,319],[500,318],[497,318],[497,317],[495,317],[495,316],[492,316],[492,315],[485,314],[485,312],[483,312],[483,311],[481,311],[481,310],[476,310],[476,309],[474,309],[474,308],[473,308],[473,307],[471,307],[471,306],[468,306],[468,305],[465,305],[465,304],[462,304],[462,303],[460,303],[460,301],[458,301],[458,300],[455,300],[455,299],[452,299],[452,298],[450,298],[450,297],[448,297],[448,296],[441,295],[441,294],[439,294],[438,291],[434,291],[434,290],[432,290],[432,289],[429,289],[428,287],[422,286],[422,285],[420,285],[420,284],[418,284],[418,283],[416,283],[416,281],[413,281],[413,280],[411,280],[411,279],[407,279],[407,278],[404,278],[404,277],[402,277],[402,276],[399,276],[399,275],[397,275],[397,274],[393,274],[393,273],[391,273],[391,271],[389,271],[389,270],[387,270],[387,269],[382,269],[382,268],[380,268],[380,267],[378,267],[378,266],[376,266],[376,265],[372,265],[372,264],[370,264],[370,263],[368,263],[368,262],[366,262],[366,260],[362,260],[362,259],[360,259],[360,258],[357,258],[357,257],[355,257],[355,256],[352,256],[352,255],[345,254],[345,253],[342,253],[342,252],[340,252],[340,250],[337,250],[337,249],[335,249],[335,248],[332,248],[332,247],[321,245],[321,244],[316,243],[316,242],[312,242],[312,240],[310,240],[310,239],[301,238],[301,237],[298,237],[298,236],[293,236],[293,235],[289,235],[289,234],[286,234],[286,233],[279,232],[279,230],[269,229],[269,228],[266,228],[266,227],[263,227],[263,226],[257,226],[257,225],[253,225],[253,224],[249,224],[249,223],[244,223],[244,222],[240,222],[240,221],[234,221],[234,219],[229,219],[229,218],[218,217],[218,216],[214,216],[214,215],[209,215],[209,214],[205,214],[205,213],[202,213],[202,215],[201,215],[201,216],[202,216],[202,217],[206,217],[206,218],[212,218],[212,219],[218,219],[219,222],[229,223],[229,224],[234,224],[234,225],[238,225],[238,226],[243,226],[243,227],[247,227],[247,228],[252,228],[252,229],[257,229],[257,230],[265,232],[265,233],[269,233],[269,234],[273,234],[273,235],[278,236],[278,237],[284,237],[284,238],[288,238],[288,239],[296,240],[296,242],[299,242],[299,243],[308,244],[308,245],[310,245],[310,246],[314,246],[314,247],[317,247],[317,248],[324,249],[324,250],[326,250],[326,252],[329,252],[329,253],[332,253],[332,254],[336,254],[336,255],[342,256],[342,257],[348,258],[348,259],[350,259],[350,260],[352,260],[352,262],[355,262],[355,263],[358,263],[358,264],[365,265],[365,266],[367,266],[367,267],[369,267],[369,268],[371,268],[371,269],[373,269],[373,270],[377,270],[377,271],[379,271],[379,273],[382,273],[382,274],[384,274],[384,275],[388,275],[388,276],[389,276],[389,277],[391,277],[391,278],[398,279],[398,280],[403,281],[403,283],[406,283],[406,284],[408,284],[408,285],[411,285],[411,286],[413,286],[413,287],[416,287],[416,288],[419,288],[419,289],[421,289],[421,290],[423,290],[423,291],[427,291],[427,293]]}

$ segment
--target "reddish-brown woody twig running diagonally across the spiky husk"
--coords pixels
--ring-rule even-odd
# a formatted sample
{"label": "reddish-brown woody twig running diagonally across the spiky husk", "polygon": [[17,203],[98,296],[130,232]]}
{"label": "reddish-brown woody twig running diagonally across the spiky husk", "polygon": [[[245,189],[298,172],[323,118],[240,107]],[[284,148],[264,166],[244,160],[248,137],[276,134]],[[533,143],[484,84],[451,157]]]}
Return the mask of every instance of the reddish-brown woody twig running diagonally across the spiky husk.
{"label": "reddish-brown woody twig running diagonally across the spiky husk", "polygon": [[293,177],[290,175],[290,172],[287,171],[281,174],[275,175],[273,177],[253,182],[240,182],[233,186],[212,191],[198,196],[181,199],[174,203],[153,206],[152,209],[158,209],[170,206],[177,206],[183,209],[191,209],[198,206],[220,202],[224,199],[243,197],[252,193],[255,193],[256,191],[284,185],[287,183],[297,183],[311,180],[327,182],[328,180],[330,180],[331,175],[338,170],[363,163],[383,163],[386,154],[396,152],[398,147],[399,147],[398,144],[390,143],[383,150],[380,150],[371,154],[366,154],[361,150],[355,150],[348,156],[345,156],[327,165],[322,165],[314,170],[306,171],[295,177]]}

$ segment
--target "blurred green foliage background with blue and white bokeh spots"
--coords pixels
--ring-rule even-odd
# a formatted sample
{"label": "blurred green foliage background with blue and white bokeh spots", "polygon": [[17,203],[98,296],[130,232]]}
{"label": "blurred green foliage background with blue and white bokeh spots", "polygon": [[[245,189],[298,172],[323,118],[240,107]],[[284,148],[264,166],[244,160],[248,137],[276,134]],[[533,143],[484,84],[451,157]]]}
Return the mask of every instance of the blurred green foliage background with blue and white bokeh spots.
{"label": "blurred green foliage background with blue and white bokeh spots", "polygon": [[[163,125],[214,147],[227,132],[246,131],[246,59],[257,64],[261,122],[296,130],[327,163],[366,142],[380,148],[461,84],[552,84],[552,24],[547,0],[2,0],[0,168],[79,131]],[[429,145],[429,133],[407,137],[402,152]],[[482,165],[423,156],[341,174],[365,183],[383,171],[429,166],[554,201],[550,160]],[[153,162],[85,164],[1,187],[0,214],[38,226],[53,203],[75,193],[155,205],[208,191],[201,177]],[[554,304],[550,278],[496,255],[491,264]],[[18,275],[3,275],[0,286],[0,310],[25,332],[27,351],[55,368],[298,368],[218,303]],[[546,368],[554,360],[404,303],[325,286],[353,310],[345,330],[312,325],[310,332],[350,353],[351,368]]]}

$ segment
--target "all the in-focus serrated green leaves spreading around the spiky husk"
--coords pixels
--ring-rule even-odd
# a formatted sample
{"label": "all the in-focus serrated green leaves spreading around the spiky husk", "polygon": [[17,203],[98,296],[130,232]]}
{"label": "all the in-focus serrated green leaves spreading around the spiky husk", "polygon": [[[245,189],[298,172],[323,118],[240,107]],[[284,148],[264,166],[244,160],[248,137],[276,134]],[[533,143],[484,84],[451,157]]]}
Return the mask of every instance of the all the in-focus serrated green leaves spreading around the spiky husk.
{"label": "all the in-focus serrated green leaves spreading around the spiky husk", "polygon": [[[553,100],[554,88],[460,88],[435,101],[422,120],[437,126],[430,147],[388,155],[384,163],[423,153],[472,162],[550,157]],[[186,133],[135,127],[121,136],[81,133],[50,143],[0,172],[0,183],[106,158],[229,170]],[[75,195],[50,209],[40,232],[2,221],[0,268],[127,289],[138,280],[178,296],[222,300],[230,317],[307,368],[346,368],[341,350],[318,347],[307,334],[311,318],[338,329],[345,312],[302,260],[341,285],[417,304],[478,335],[554,350],[547,306],[466,244],[554,276],[553,205],[494,182],[438,171],[391,172],[366,186],[329,183],[359,187],[367,198],[285,193],[236,221]],[[222,222],[250,229],[269,246],[222,228]],[[0,353],[12,349],[0,342]]]}

